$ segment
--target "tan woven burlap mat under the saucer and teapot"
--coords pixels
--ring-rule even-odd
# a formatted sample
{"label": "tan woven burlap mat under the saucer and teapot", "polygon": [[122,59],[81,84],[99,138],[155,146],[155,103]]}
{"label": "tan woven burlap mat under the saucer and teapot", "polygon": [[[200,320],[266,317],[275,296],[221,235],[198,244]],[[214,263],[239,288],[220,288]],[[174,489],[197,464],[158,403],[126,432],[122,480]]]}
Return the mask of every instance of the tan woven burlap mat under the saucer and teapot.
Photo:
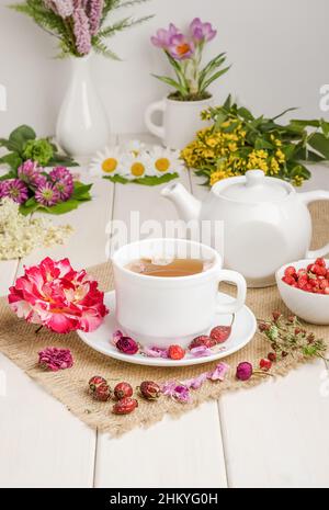
{"label": "tan woven burlap mat under the saucer and teapot", "polygon": [[[313,205],[311,214],[315,222],[313,248],[317,248],[329,240],[328,202]],[[110,264],[98,265],[89,272],[101,282],[103,290],[113,288]],[[230,293],[231,287],[226,286],[225,291]],[[276,287],[250,290],[247,304],[258,318],[269,318],[272,310],[276,309],[286,311]],[[88,426],[110,432],[112,435],[120,435],[135,427],[148,427],[161,420],[164,413],[179,417],[205,400],[217,399],[225,390],[247,388],[268,379],[268,377],[253,377],[248,383],[240,383],[235,378],[236,366],[239,362],[249,361],[258,366],[259,360],[265,356],[270,350],[269,343],[260,335],[256,335],[249,345],[225,359],[225,362],[230,365],[226,381],[223,383],[206,382],[201,389],[193,392],[191,404],[179,404],[168,397],[161,397],[155,403],[139,399],[139,407],[135,412],[128,416],[115,416],[111,412],[111,403],[97,403],[88,395],[88,381],[92,375],[103,375],[112,386],[121,381],[127,381],[133,387],[136,387],[146,379],[157,382],[188,379],[211,370],[216,363],[183,369],[138,366],[117,362],[99,354],[80,341],[76,333],[60,336],[43,329],[38,335],[35,335],[35,326],[19,320],[10,310],[7,299],[1,298],[0,351]],[[328,328],[313,326],[311,330],[327,339],[329,344]],[[37,352],[45,347],[53,345],[69,348],[72,351],[75,359],[72,369],[53,373],[44,372],[37,366]],[[298,358],[286,358],[273,366],[272,373],[275,376],[284,375],[305,361]]]}

